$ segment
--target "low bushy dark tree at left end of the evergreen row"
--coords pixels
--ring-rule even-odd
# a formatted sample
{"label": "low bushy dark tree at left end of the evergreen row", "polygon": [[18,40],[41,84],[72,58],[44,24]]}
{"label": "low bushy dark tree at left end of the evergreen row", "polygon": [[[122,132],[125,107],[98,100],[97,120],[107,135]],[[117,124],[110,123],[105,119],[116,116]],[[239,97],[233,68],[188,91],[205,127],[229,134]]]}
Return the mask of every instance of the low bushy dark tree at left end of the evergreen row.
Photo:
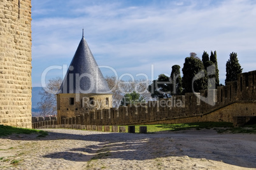
{"label": "low bushy dark tree at left end of the evergreen row", "polygon": [[151,93],[152,98],[169,98],[171,91],[171,82],[169,77],[160,74],[157,80],[148,86],[148,91]]}

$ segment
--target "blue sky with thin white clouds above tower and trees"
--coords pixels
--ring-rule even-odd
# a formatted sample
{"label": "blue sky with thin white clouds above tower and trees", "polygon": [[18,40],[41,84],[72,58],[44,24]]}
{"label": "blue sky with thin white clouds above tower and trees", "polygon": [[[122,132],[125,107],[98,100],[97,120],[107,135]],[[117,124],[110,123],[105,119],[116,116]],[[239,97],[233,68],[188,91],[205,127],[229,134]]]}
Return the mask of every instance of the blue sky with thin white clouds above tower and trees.
{"label": "blue sky with thin white clouds above tower and trees", "polygon": [[[45,69],[70,64],[82,29],[97,64],[119,76],[155,79],[182,68],[190,52],[201,58],[216,50],[224,84],[232,51],[243,72],[256,70],[255,18],[256,2],[248,0],[32,0],[32,86],[41,86]],[[63,72],[50,70],[46,79]]]}

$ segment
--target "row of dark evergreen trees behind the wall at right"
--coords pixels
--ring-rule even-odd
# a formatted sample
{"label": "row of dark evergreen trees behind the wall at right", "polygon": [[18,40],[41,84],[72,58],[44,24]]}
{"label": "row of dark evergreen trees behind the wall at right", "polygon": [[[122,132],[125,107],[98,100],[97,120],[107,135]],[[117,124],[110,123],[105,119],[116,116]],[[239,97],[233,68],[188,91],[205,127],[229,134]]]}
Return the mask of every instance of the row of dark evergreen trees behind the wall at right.
{"label": "row of dark evergreen trees behind the wall at right", "polygon": [[[170,77],[160,74],[148,86],[152,98],[170,98],[174,95],[199,92],[201,89],[217,89],[218,86],[222,86],[219,80],[216,51],[211,51],[210,57],[204,51],[202,59],[197,57],[196,53],[190,53],[183,64],[183,77],[180,74],[180,65],[173,65],[171,68]],[[225,84],[229,81],[236,81],[237,75],[242,71],[237,53],[230,53],[226,63]]]}

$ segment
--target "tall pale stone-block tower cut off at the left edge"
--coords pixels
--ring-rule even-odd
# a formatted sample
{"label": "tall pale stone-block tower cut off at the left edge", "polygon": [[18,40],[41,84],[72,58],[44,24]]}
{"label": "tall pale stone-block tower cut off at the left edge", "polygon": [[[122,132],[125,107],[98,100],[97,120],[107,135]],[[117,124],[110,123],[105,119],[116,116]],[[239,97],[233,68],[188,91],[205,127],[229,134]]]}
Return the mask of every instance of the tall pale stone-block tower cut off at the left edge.
{"label": "tall pale stone-block tower cut off at the left edge", "polygon": [[31,128],[31,0],[0,0],[0,124]]}

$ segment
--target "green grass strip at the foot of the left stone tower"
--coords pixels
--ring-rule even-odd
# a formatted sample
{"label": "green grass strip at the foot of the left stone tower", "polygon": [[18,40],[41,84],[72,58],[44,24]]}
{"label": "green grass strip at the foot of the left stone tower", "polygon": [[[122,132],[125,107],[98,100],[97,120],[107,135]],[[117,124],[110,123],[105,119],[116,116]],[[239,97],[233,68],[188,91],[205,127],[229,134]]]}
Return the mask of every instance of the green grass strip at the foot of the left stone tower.
{"label": "green grass strip at the foot of the left stone tower", "polygon": [[43,137],[48,135],[47,132],[36,130],[36,129],[15,128],[12,126],[0,125],[0,136],[8,136],[10,134],[31,134],[31,133],[38,134],[38,137]]}

